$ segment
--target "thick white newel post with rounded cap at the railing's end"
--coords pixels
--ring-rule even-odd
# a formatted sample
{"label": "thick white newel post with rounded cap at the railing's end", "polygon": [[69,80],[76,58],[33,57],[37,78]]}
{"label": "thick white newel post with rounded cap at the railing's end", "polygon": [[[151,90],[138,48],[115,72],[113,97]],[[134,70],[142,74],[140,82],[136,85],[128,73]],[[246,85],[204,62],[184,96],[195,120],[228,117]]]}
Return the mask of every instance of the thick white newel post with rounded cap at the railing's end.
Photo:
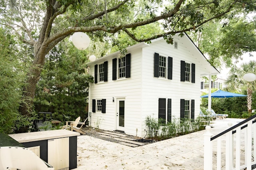
{"label": "thick white newel post with rounded cap at the railing's end", "polygon": [[206,126],[206,133],[204,133],[204,170],[212,170],[212,142],[210,126]]}

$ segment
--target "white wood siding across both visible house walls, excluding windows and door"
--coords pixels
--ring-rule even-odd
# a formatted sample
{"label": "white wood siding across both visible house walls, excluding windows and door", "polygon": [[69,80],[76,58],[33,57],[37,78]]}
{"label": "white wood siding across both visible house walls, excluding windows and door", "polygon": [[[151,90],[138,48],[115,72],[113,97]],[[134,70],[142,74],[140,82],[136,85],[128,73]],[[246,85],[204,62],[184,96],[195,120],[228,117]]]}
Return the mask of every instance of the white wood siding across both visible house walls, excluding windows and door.
{"label": "white wood siding across both visible house walls, excluding windows and door", "polygon": [[[199,115],[200,76],[216,70],[212,67],[210,71],[206,69],[205,65],[208,66],[206,59],[189,38],[174,36],[174,41],[178,42],[178,49],[161,38],[152,41],[150,45],[131,47],[130,51],[128,50],[128,53],[131,53],[130,78],[112,80],[112,59],[118,58],[118,53],[94,62],[100,64],[104,62],[104,59],[108,61],[108,82],[90,84],[89,112],[92,112],[92,99],[106,99],[106,113],[97,111],[92,113],[90,119],[92,127],[96,127],[98,121],[100,129],[116,130],[117,98],[125,98],[125,133],[137,134],[140,137],[145,135],[146,116],[158,118],[159,98],[166,99],[166,107],[168,99],[172,99],[172,117],[175,118],[180,118],[180,99],[190,101],[194,99],[195,118]],[[172,57],[172,80],[154,77],[154,53]],[[180,81],[181,60],[195,64],[196,83]],[[94,64],[90,65],[90,74],[94,77]],[[112,102],[112,97],[114,97],[114,102]]]}

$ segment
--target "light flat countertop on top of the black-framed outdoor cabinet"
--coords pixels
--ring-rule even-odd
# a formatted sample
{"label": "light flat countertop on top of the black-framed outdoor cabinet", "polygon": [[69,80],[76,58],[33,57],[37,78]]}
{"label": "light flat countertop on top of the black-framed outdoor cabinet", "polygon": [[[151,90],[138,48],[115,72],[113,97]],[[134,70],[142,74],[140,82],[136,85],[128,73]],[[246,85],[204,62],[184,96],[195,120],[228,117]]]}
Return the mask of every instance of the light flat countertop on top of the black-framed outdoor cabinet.
{"label": "light flat countertop on top of the black-framed outdoor cabinet", "polygon": [[64,137],[70,137],[70,136],[79,136],[79,135],[80,133],[78,132],[72,132],[70,130],[65,130],[65,129],[9,134],[10,137],[12,137],[13,139],[15,139],[20,143],[34,142],[38,140],[48,140],[48,139],[55,139],[55,138],[64,138]]}

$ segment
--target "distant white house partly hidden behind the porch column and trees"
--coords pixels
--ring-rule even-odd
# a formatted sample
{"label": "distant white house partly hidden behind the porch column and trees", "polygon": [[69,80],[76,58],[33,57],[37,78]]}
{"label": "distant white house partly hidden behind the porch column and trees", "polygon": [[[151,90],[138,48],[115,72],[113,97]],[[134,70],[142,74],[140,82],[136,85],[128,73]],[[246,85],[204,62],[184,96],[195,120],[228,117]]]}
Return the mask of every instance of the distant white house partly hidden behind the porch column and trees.
{"label": "distant white house partly hidden behind the porch column and trees", "polygon": [[[211,81],[211,87],[212,89],[223,89],[225,87],[225,81],[224,79],[218,78],[214,81]],[[201,92],[208,93],[209,89],[209,82],[201,79]]]}

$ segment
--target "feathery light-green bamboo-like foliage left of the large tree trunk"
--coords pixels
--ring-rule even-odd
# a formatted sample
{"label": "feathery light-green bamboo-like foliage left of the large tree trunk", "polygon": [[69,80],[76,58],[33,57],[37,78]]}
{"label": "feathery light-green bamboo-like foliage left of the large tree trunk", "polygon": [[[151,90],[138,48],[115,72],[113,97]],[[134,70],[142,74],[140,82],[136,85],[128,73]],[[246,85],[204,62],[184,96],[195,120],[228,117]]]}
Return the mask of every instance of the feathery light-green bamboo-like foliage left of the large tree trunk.
{"label": "feathery light-green bamboo-like foliage left of the large tree trunk", "polygon": [[[13,133],[32,125],[32,118],[22,116],[18,109],[22,102],[20,89],[24,73],[20,71],[14,39],[0,28],[0,133]],[[25,71],[25,70],[24,70]]]}

